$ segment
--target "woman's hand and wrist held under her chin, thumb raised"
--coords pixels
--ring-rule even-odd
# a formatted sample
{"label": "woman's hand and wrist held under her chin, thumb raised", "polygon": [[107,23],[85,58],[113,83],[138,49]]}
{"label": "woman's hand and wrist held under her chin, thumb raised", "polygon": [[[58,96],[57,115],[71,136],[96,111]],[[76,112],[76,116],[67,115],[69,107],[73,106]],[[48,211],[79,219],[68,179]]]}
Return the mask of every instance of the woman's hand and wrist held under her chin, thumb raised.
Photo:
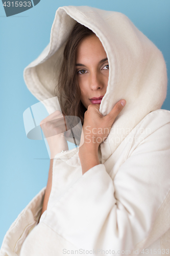
{"label": "woman's hand and wrist held under her chin, thumb raised", "polygon": [[79,146],[83,174],[93,166],[100,164],[98,157],[99,145],[107,138],[115,118],[123,110],[125,104],[126,100],[119,100],[106,116],[102,116],[100,113],[100,104],[90,104],[88,106],[84,114],[83,131]]}

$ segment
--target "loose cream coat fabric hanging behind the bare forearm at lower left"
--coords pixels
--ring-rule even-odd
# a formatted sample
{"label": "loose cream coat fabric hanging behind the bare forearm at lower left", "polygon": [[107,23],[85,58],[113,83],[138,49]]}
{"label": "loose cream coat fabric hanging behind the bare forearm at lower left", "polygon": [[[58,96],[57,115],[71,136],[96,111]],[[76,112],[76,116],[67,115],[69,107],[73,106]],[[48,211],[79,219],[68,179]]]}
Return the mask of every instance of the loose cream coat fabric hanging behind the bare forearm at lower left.
{"label": "loose cream coat fabric hanging behind the bare forearm at lower left", "polygon": [[19,255],[23,241],[37,225],[46,187],[42,188],[23,209],[7,231],[0,250],[0,256]]}

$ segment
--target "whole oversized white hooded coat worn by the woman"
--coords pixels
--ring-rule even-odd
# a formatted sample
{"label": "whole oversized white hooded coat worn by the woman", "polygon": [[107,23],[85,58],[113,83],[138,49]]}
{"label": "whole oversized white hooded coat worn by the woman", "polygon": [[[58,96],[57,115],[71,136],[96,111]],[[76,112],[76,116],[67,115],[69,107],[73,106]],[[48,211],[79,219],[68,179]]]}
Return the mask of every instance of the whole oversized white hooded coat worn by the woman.
{"label": "whole oversized white hooded coat worn by the woman", "polygon": [[[11,225],[0,256],[168,255],[170,112],[160,109],[166,65],[153,42],[122,13],[60,7],[50,44],[24,71],[27,87],[40,101],[55,96],[54,66],[76,21],[99,37],[108,57],[100,112],[120,99],[127,104],[100,145],[99,165],[82,175],[79,147],[56,155],[47,210],[37,225],[44,187]],[[44,104],[49,114],[58,109]]]}

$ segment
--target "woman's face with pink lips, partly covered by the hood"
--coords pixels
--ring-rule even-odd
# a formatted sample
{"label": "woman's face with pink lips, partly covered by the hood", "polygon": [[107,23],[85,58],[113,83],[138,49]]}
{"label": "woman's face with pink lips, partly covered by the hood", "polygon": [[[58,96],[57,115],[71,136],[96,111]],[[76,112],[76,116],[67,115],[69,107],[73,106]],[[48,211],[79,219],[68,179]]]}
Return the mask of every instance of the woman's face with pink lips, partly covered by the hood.
{"label": "woman's face with pink lips, partly covered by the hood", "polygon": [[107,89],[109,62],[96,35],[86,37],[78,46],[76,69],[81,101],[85,108],[87,109],[89,104],[100,104]]}

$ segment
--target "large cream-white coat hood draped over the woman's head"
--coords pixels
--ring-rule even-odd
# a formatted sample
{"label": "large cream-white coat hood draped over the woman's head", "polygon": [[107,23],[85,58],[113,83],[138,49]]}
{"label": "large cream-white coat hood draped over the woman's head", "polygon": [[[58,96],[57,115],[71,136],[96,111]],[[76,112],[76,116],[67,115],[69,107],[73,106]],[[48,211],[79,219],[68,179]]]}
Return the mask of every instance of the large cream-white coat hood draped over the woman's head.
{"label": "large cream-white coat hood draped over the woman's head", "polygon": [[38,100],[44,100],[49,114],[59,109],[54,100],[45,99],[55,97],[54,68],[57,70],[56,65],[61,64],[65,43],[76,21],[99,37],[108,57],[109,81],[101,114],[107,115],[120,99],[127,102],[101,144],[104,163],[146,115],[161,108],[167,90],[166,65],[161,51],[125,14],[87,6],[60,7],[50,43],[23,73],[28,89]]}

